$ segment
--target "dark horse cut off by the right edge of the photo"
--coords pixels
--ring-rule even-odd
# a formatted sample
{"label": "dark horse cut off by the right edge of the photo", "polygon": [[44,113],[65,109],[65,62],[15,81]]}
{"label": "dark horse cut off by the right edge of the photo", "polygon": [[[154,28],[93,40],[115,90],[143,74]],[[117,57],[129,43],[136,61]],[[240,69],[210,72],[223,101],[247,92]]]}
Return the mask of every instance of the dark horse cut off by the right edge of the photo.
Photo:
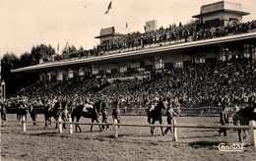
{"label": "dark horse cut off by the right edge of the photo", "polygon": [[[245,107],[237,111],[233,115],[232,120],[233,120],[233,125],[237,125],[237,122],[239,121],[241,126],[248,126],[250,121],[252,120],[256,121],[255,104],[253,107]],[[244,132],[243,139],[245,139],[247,134],[245,130],[243,130],[243,132]],[[238,138],[239,138],[239,141],[241,141],[241,130],[238,130]]]}

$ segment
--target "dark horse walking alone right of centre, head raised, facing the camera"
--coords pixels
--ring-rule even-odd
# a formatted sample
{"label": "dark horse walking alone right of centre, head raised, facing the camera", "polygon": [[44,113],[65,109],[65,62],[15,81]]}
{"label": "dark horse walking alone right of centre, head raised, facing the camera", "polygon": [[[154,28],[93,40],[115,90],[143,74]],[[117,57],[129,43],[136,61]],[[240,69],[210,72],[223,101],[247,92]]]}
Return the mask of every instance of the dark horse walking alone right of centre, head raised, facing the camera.
{"label": "dark horse walking alone right of centre, head raised, facing the camera", "polygon": [[[160,122],[160,125],[162,123],[162,115],[165,113],[166,109],[163,104],[163,102],[160,100],[158,105],[153,109],[153,107],[150,107],[147,110],[147,116],[148,116],[148,123],[149,124],[155,124],[157,121]],[[152,122],[151,122],[152,120]],[[155,127],[151,127],[151,134],[154,134]],[[160,127],[161,134],[164,135],[162,127]]]}

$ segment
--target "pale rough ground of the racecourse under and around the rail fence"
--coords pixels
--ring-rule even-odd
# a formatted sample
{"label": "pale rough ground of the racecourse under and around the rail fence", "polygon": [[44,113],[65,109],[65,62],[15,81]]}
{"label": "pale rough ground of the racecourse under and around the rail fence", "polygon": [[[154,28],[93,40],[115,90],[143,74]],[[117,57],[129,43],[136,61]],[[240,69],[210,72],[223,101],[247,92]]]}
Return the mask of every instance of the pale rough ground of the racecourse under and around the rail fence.
{"label": "pale rough ground of the racecourse under and around the rail fence", "polygon": [[[7,115],[15,121],[16,115]],[[31,119],[31,118],[30,118]],[[39,116],[38,120],[42,120]],[[101,118],[100,118],[101,119]],[[110,119],[110,117],[109,117]],[[219,125],[219,118],[180,117],[178,125]],[[165,118],[163,118],[164,124]],[[83,118],[82,122],[90,122]],[[110,120],[111,121],[111,120]],[[123,116],[127,124],[147,124],[142,116]],[[224,142],[237,142],[237,133],[228,131],[224,137],[217,130],[178,129],[178,141],[171,140],[171,134],[160,135],[160,128],[151,136],[149,128],[119,129],[118,139],[109,132],[100,133],[94,127],[81,126],[83,132],[58,134],[55,125],[43,130],[43,125],[27,126],[27,132],[17,123],[4,123],[1,127],[1,160],[255,160],[256,148],[250,146],[250,137],[245,140],[243,152],[224,152],[218,146]]]}

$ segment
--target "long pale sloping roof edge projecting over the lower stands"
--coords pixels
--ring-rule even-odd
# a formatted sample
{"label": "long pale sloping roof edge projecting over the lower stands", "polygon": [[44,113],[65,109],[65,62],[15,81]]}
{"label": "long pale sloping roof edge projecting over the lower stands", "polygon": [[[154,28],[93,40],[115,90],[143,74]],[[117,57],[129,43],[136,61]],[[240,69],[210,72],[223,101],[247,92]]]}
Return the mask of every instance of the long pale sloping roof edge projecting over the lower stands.
{"label": "long pale sloping roof edge projecting over the lower stands", "polygon": [[99,62],[99,61],[118,59],[118,58],[128,58],[128,57],[134,57],[134,56],[143,56],[143,55],[145,56],[149,53],[158,53],[158,52],[164,52],[164,51],[186,49],[186,48],[197,47],[197,46],[220,44],[224,42],[231,42],[231,41],[244,40],[244,39],[250,39],[250,38],[256,38],[256,32],[229,35],[224,37],[217,37],[217,38],[198,40],[198,41],[192,41],[192,42],[177,43],[177,44],[171,44],[171,45],[165,45],[165,46],[163,45],[159,47],[145,48],[141,50],[127,51],[122,53],[95,56],[95,57],[84,57],[84,58],[82,57],[82,58],[66,59],[66,60],[64,59],[61,61],[54,61],[50,63],[38,64],[34,66],[15,69],[15,70],[12,70],[11,72],[12,73],[32,72],[35,70],[44,70],[47,68],[54,68],[54,67],[79,65],[79,64],[85,64],[90,62]]}

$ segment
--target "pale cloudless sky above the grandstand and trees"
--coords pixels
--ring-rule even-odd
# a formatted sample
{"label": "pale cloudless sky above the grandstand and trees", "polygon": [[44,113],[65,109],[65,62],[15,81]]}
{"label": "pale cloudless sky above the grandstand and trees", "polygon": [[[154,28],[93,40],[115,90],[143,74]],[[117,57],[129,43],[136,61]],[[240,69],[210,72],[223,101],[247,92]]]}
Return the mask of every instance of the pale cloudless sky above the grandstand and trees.
{"label": "pale cloudless sky above the grandstand and trees", "polygon": [[[200,13],[203,4],[220,0],[0,0],[0,57],[14,53],[18,57],[31,52],[37,44],[51,45],[59,53],[68,42],[77,48],[92,49],[95,37],[104,27],[119,32],[144,32],[146,22],[157,20],[158,27],[186,24]],[[256,20],[256,0],[239,2],[251,13],[243,22]],[[126,28],[126,23],[128,27]]]}

